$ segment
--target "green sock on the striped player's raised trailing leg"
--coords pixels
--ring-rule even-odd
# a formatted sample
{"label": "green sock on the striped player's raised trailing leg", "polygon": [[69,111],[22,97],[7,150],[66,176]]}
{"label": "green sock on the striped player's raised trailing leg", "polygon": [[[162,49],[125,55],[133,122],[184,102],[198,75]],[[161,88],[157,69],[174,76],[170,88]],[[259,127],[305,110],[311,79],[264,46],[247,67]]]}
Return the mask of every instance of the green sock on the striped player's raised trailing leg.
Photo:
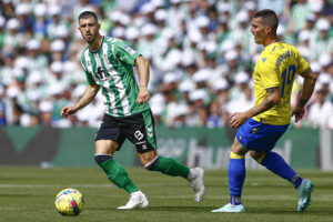
{"label": "green sock on the striped player's raised trailing leg", "polygon": [[172,175],[172,176],[180,175],[183,176],[184,179],[188,179],[190,174],[189,168],[176,162],[172,158],[165,158],[165,157],[159,157],[159,162],[153,169],[153,171],[159,171],[161,173],[164,173],[167,175]]}

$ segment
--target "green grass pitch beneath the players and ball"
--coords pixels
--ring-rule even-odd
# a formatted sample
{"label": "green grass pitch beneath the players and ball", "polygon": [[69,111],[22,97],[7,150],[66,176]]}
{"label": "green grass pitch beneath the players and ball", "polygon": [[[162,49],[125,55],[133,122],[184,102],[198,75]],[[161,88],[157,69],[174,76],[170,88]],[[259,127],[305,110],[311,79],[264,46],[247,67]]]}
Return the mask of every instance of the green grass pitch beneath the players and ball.
{"label": "green grass pitch beneath the players and ball", "polygon": [[[296,212],[292,185],[268,171],[248,171],[243,189],[245,213],[211,213],[229,201],[226,171],[206,170],[206,194],[193,201],[192,190],[181,178],[170,178],[144,169],[129,169],[132,180],[147,194],[147,210],[119,211],[128,194],[111,185],[95,168],[0,169],[0,221],[333,221],[333,172],[300,171],[313,180],[312,204]],[[80,190],[85,199],[79,216],[62,216],[54,209],[54,196],[64,188]]]}

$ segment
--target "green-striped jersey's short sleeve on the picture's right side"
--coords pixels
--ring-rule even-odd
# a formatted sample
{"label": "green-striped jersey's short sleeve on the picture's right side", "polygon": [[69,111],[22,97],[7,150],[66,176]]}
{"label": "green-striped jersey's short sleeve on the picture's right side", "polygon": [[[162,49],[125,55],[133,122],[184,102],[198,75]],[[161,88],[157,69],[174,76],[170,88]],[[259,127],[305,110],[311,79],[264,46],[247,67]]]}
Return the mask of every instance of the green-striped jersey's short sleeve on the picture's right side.
{"label": "green-striped jersey's short sleeve on the picture's right side", "polygon": [[114,42],[114,56],[118,60],[134,65],[135,59],[140,56],[140,53],[133,50],[124,41],[118,40]]}

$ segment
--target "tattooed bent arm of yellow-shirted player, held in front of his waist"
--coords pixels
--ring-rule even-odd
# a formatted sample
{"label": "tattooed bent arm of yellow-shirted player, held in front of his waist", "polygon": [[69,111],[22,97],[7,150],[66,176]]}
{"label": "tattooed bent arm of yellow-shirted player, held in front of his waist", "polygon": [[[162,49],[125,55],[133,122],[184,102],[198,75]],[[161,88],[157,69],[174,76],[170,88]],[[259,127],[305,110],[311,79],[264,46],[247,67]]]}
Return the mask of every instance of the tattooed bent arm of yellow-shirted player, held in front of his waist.
{"label": "tattooed bent arm of yellow-shirted player, held in front of his waist", "polygon": [[249,118],[258,115],[275,104],[280,102],[281,99],[281,90],[280,87],[272,87],[266,89],[268,97],[258,105],[249,109],[245,112],[235,112],[231,114],[229,118],[231,119],[230,125],[232,128],[241,127]]}

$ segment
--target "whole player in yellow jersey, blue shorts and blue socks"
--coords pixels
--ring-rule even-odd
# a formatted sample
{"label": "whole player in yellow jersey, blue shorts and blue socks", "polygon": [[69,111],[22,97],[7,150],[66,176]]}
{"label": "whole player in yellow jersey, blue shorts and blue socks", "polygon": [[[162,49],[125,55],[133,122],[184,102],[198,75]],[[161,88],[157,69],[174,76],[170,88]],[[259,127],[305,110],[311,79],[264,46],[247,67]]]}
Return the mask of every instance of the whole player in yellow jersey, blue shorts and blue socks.
{"label": "whole player in yellow jersey, blue shorts and blue socks", "polygon": [[[230,203],[212,212],[244,212],[241,202],[245,180],[244,155],[250,155],[276,175],[290,181],[297,191],[297,211],[306,210],[311,201],[312,181],[302,179],[278,153],[271,151],[286,131],[291,115],[295,122],[304,115],[316,78],[300,52],[276,37],[279,19],[272,10],[258,11],[250,32],[264,50],[256,61],[253,79],[255,104],[245,112],[230,115],[230,124],[240,128],[229,162]],[[291,111],[290,97],[295,75],[304,78],[302,94]]]}

